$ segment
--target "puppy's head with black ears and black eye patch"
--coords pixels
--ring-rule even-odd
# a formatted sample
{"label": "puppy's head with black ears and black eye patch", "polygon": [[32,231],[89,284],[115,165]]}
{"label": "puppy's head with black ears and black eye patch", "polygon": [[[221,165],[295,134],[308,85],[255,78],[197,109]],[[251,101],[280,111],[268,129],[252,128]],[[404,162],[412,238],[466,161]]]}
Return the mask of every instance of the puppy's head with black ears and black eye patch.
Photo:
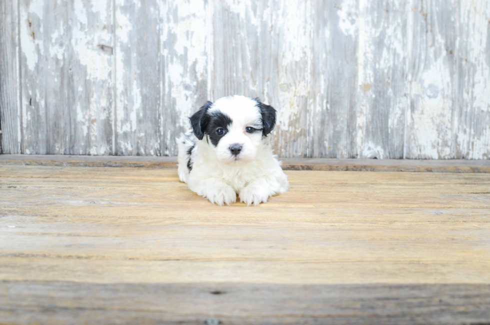
{"label": "puppy's head with black ears and black eye patch", "polygon": [[275,125],[275,109],[244,96],[228,96],[208,101],[190,117],[194,135],[204,139],[227,164],[253,160],[259,146]]}

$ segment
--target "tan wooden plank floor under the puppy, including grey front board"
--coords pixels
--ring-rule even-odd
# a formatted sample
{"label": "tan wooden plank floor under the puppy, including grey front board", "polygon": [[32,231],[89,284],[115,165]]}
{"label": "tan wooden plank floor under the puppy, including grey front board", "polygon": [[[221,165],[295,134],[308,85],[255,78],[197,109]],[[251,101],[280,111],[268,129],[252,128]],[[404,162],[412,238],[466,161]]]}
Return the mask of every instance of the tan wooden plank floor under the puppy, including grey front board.
{"label": "tan wooden plank floor under the puppy, including grey front board", "polygon": [[490,174],[286,173],[247,207],[172,168],[0,165],[0,322],[490,322]]}

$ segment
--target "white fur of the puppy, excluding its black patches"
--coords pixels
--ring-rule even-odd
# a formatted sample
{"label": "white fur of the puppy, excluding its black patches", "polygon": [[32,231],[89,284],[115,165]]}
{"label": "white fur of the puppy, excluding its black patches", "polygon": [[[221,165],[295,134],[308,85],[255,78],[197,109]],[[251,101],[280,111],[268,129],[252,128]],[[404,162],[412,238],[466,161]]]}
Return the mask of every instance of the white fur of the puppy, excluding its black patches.
{"label": "white fur of the puppy, excluding its black patches", "polygon": [[[272,153],[268,137],[261,132],[247,133],[245,127],[261,128],[260,110],[254,99],[228,96],[216,100],[208,112],[221,111],[232,123],[228,132],[214,146],[204,134],[199,140],[192,131],[177,138],[178,176],[190,190],[218,205],[234,203],[236,194],[247,205],[267,202],[268,197],[288,189],[287,176]],[[189,172],[187,151],[193,147]],[[242,145],[237,156],[229,151],[231,144]]]}

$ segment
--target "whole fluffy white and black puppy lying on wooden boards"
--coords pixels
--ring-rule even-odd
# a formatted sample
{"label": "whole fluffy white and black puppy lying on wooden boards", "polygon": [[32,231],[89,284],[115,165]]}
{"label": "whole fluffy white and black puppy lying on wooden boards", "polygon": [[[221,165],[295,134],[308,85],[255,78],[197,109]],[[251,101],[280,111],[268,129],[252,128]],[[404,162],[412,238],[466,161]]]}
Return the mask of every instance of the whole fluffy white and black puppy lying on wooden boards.
{"label": "whole fluffy white and black puppy lying on wooden boards", "polygon": [[267,134],[275,109],[257,98],[227,96],[208,101],[190,117],[192,130],[177,138],[178,177],[189,189],[219,205],[267,202],[285,192],[287,176]]}

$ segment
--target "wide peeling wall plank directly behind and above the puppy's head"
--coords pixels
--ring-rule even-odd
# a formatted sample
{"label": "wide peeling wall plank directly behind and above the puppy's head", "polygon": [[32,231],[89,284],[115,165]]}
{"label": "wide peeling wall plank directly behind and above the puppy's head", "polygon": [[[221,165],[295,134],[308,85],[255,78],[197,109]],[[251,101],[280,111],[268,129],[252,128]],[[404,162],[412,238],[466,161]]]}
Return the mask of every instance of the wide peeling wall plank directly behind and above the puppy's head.
{"label": "wide peeling wall plank directly behind and above the puppy's head", "polygon": [[211,97],[260,97],[277,109],[271,135],[281,156],[306,156],[311,3],[216,1]]}

